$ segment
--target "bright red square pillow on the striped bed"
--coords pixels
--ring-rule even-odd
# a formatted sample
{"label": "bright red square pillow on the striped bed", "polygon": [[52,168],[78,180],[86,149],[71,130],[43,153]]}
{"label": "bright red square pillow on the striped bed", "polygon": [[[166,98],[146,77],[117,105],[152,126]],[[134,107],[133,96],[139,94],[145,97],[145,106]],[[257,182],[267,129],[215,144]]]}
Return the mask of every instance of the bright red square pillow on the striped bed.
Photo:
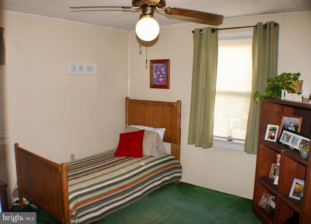
{"label": "bright red square pillow on the striped bed", "polygon": [[133,156],[142,158],[142,140],[145,130],[121,133],[115,156]]}

